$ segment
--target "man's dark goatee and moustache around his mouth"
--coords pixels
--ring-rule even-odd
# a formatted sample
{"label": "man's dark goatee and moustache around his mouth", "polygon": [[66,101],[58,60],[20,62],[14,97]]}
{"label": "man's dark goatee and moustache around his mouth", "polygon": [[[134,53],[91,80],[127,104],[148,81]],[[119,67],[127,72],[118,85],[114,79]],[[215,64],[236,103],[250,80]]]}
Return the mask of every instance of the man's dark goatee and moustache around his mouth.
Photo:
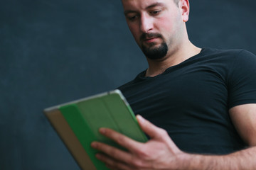
{"label": "man's dark goatee and moustache around his mouth", "polygon": [[[143,34],[141,36],[142,42],[146,38],[161,38],[164,41],[161,34],[158,34],[158,33]],[[161,45],[159,45],[159,47],[154,47],[155,45],[156,45],[155,42],[151,42],[149,44],[149,47],[146,47],[146,45],[143,45],[143,43],[142,43],[142,52],[144,53],[144,55],[147,58],[149,58],[151,60],[159,60],[159,59],[164,58],[168,52],[167,43],[164,41],[161,43]]]}

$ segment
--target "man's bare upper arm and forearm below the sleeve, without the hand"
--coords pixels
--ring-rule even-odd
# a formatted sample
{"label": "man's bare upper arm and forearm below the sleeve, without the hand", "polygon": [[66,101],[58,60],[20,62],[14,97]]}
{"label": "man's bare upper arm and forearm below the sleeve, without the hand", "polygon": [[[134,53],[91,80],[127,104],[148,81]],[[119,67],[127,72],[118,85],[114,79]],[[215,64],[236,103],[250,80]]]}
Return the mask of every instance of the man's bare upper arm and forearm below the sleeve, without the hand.
{"label": "man's bare upper arm and forearm below the sleeve, without the hand", "polygon": [[256,169],[256,104],[235,106],[229,113],[249,148],[223,156],[194,155],[189,160],[194,169]]}

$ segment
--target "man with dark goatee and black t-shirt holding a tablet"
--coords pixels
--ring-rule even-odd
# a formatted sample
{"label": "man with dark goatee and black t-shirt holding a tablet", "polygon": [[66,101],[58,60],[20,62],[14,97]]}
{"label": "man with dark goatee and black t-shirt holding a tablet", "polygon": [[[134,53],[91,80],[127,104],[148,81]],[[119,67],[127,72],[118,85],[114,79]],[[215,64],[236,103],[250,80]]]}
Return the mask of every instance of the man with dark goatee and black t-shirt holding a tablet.
{"label": "man with dark goatee and black t-shirt holding a tablet", "polygon": [[96,157],[110,169],[256,169],[255,55],[194,46],[188,0],[122,4],[149,68],[119,89],[150,140],[101,128],[127,152],[92,142]]}

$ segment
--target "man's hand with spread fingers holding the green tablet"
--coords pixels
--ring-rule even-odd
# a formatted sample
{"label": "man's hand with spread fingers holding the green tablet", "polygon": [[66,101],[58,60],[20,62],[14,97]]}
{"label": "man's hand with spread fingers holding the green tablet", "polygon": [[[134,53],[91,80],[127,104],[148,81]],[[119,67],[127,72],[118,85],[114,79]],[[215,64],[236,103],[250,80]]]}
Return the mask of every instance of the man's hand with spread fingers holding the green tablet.
{"label": "man's hand with spread fingers holding the green tablet", "polygon": [[148,120],[137,115],[140,127],[151,140],[141,143],[130,139],[114,130],[101,128],[100,133],[117,142],[128,152],[92,142],[92,147],[104,154],[97,154],[97,159],[105,162],[110,169],[178,169],[181,168],[181,159],[186,159],[188,154],[181,152],[171,140],[167,132]]}

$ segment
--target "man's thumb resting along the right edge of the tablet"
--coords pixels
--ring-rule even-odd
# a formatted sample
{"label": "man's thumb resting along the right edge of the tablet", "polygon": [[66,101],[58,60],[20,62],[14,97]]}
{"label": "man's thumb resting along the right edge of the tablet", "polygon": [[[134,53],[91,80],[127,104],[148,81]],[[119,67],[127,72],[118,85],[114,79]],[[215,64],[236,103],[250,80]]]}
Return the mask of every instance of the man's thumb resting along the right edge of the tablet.
{"label": "man's thumb resting along the right edge of the tablet", "polygon": [[142,115],[137,115],[136,118],[139,122],[140,128],[142,128],[146,135],[149,135],[149,137],[151,138],[161,137],[161,134],[163,134],[163,129],[158,128],[156,125],[153,125],[149,122],[149,120],[142,118]]}

